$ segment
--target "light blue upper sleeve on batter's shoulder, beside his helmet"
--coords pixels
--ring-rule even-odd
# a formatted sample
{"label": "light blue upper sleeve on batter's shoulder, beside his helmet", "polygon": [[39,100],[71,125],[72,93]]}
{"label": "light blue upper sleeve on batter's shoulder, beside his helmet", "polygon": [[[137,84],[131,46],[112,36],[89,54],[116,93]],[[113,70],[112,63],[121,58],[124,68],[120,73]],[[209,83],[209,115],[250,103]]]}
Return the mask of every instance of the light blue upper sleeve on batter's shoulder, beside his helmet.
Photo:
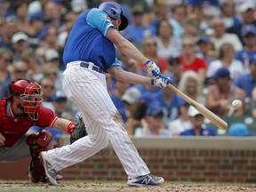
{"label": "light blue upper sleeve on batter's shoulder, beside his helmet", "polygon": [[108,28],[116,28],[110,20],[107,20],[107,13],[100,9],[93,8],[86,17],[86,21],[92,28],[98,28],[106,36]]}

